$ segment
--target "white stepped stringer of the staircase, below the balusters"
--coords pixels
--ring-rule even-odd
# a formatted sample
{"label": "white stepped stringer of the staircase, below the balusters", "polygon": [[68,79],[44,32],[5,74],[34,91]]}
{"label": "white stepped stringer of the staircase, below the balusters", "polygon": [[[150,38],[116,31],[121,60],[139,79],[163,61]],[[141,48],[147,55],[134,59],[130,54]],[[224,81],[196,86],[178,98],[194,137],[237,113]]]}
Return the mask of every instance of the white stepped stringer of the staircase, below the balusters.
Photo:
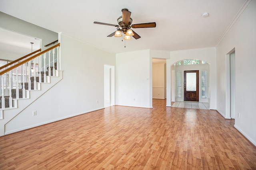
{"label": "white stepped stringer of the staircase, below the balusters", "polygon": [[[45,94],[53,86],[55,86],[63,78],[63,71],[56,71],[57,76],[47,76],[49,82],[38,83],[40,90],[27,90],[28,98],[13,99],[16,100],[14,103],[18,107],[12,107],[12,109],[0,110],[0,136],[6,135],[5,125],[11,121],[14,117],[20,114],[24,109],[34,103],[40,96]],[[21,101],[22,100],[22,101]],[[14,104],[14,105],[15,105]],[[2,118],[2,119],[1,119]]]}

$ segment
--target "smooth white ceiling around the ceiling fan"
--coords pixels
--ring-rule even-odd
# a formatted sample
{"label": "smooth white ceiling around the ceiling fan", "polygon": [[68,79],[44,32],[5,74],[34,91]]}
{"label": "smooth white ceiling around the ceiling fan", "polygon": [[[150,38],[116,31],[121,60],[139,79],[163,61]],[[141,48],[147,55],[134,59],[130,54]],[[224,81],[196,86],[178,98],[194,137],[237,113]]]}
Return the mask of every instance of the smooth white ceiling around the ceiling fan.
{"label": "smooth white ceiling around the ceiling fan", "polygon": [[[247,0],[1,0],[0,11],[46,29],[62,32],[113,53],[155,49],[177,51],[216,47]],[[133,24],[156,22],[155,28],[133,29],[140,39],[107,37],[121,9]],[[204,18],[202,13],[208,12]]]}

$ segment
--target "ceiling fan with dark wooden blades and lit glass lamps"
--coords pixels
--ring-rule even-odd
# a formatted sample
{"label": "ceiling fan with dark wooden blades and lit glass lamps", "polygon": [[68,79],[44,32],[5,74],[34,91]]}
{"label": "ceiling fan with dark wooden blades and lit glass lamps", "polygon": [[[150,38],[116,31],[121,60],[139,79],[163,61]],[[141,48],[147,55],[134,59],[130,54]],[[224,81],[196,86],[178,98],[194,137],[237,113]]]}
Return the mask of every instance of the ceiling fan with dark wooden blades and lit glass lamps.
{"label": "ceiling fan with dark wooden blades and lit glass lamps", "polygon": [[[138,35],[136,32],[134,32],[131,28],[156,27],[155,22],[132,24],[132,18],[130,18],[130,16],[131,16],[131,12],[127,8],[123,8],[122,16],[120,16],[117,19],[118,25],[114,25],[114,24],[110,24],[110,23],[96,22],[96,21],[94,21],[94,23],[117,27],[117,31],[113,32],[112,34],[108,35],[107,37],[112,37],[112,36],[121,37],[122,33],[123,33],[124,39],[126,39],[126,40],[131,39],[130,36],[134,37],[135,39],[140,38],[140,35]],[[121,27],[121,28],[119,28],[119,27]]]}

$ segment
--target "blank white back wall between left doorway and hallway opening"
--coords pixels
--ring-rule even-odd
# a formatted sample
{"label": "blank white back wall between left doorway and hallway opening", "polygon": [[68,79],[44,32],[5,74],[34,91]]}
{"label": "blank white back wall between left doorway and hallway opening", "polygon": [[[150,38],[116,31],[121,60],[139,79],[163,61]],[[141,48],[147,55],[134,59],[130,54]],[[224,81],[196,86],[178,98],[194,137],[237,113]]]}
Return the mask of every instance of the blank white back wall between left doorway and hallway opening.
{"label": "blank white back wall between left doorway and hallway opening", "polygon": [[144,50],[116,54],[116,105],[152,107],[149,53]]}

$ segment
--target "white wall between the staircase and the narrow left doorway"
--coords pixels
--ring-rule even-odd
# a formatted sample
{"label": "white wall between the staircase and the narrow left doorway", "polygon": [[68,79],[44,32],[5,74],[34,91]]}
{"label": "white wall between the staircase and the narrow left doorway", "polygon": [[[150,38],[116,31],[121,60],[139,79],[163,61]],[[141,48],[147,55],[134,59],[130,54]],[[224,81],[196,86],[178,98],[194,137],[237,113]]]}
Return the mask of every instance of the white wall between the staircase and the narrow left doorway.
{"label": "white wall between the staircase and the narrow left doorway", "polygon": [[61,55],[63,79],[7,123],[6,134],[104,108],[104,64],[114,66],[115,55],[66,35]]}

